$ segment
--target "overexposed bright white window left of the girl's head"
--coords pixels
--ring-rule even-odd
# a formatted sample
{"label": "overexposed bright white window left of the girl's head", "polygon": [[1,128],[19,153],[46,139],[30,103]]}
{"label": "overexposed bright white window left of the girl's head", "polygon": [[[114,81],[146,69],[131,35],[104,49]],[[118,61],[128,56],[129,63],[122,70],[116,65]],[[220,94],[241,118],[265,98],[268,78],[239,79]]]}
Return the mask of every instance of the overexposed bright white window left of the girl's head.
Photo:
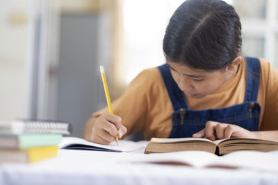
{"label": "overexposed bright white window left of the girl's head", "polygon": [[165,62],[162,40],[174,10],[183,0],[125,0],[126,84],[150,67]]}

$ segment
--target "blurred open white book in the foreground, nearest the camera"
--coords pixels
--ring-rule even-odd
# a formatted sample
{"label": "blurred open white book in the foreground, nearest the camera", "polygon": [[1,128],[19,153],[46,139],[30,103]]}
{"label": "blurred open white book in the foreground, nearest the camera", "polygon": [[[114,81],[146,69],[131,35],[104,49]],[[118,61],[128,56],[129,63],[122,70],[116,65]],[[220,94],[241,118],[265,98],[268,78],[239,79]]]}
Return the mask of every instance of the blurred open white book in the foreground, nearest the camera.
{"label": "blurred open white book in the foreground, nearest the camera", "polygon": [[217,156],[204,151],[181,151],[133,155],[122,162],[184,165],[196,168],[251,168],[278,172],[278,152],[237,151]]}

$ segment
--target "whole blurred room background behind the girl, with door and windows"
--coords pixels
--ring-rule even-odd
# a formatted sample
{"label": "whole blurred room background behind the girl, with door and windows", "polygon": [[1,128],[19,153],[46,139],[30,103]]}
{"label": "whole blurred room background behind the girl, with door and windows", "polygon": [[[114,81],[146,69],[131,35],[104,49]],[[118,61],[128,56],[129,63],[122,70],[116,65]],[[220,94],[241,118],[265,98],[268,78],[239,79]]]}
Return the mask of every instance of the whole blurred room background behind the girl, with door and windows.
{"label": "whole blurred room background behind the girl, with door and windows", "polygon": [[[72,123],[73,136],[142,69],[165,62],[162,39],[183,0],[9,0],[0,7],[0,121]],[[278,67],[278,1],[234,0],[243,55]]]}

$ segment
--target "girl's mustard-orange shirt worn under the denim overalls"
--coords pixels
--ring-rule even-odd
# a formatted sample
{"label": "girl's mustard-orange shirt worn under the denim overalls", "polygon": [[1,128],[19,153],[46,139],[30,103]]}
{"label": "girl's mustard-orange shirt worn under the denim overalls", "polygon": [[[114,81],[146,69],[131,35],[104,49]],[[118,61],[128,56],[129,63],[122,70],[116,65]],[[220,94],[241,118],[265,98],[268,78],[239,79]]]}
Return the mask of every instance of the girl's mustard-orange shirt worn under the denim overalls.
{"label": "girl's mustard-orange shirt worn under the denim overalls", "polygon": [[[257,102],[261,105],[260,130],[278,130],[278,72],[269,62],[260,59],[261,78]],[[245,96],[245,60],[238,73],[219,89],[203,98],[186,97],[190,109],[215,109],[243,103]],[[112,104],[114,114],[122,117],[127,134],[139,131],[145,139],[168,137],[172,128],[172,103],[161,73],[157,68],[142,71],[120,98]],[[108,112],[102,109],[93,114]]]}

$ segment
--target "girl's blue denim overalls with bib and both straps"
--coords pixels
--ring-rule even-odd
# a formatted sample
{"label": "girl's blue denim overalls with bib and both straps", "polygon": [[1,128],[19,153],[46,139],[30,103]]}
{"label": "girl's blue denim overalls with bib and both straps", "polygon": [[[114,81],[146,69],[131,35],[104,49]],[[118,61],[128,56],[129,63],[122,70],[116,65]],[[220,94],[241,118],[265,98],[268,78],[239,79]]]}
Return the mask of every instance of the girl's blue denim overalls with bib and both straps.
{"label": "girl's blue denim overalls with bib and both straps", "polygon": [[191,110],[183,91],[172,78],[167,64],[158,67],[174,109],[171,115],[170,138],[191,137],[204,129],[206,121],[231,123],[250,131],[259,130],[261,105],[256,102],[256,99],[259,91],[261,64],[257,58],[245,58],[245,61],[247,73],[244,102],[220,109]]}

